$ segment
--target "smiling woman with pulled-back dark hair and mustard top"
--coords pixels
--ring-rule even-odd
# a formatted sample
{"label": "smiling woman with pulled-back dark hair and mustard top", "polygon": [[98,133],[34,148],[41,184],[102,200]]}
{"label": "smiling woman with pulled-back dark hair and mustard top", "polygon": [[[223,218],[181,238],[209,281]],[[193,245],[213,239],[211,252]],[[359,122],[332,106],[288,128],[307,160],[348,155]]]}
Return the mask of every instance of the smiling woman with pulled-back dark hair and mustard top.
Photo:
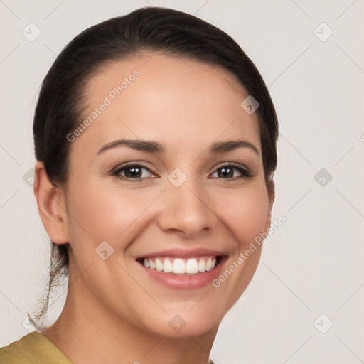
{"label": "smiling woman with pulled-back dark hair and mustard top", "polygon": [[213,363],[274,201],[277,116],[252,61],[205,21],[138,9],[58,55],[33,133],[50,287],[68,275],[68,294],[0,363]]}

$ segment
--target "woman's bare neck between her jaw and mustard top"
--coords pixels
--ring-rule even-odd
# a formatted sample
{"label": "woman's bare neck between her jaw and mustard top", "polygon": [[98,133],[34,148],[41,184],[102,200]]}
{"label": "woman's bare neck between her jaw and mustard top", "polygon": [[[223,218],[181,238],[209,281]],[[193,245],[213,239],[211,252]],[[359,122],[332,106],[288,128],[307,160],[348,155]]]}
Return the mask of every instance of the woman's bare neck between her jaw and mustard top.
{"label": "woman's bare neck between her jaw and mustard top", "polygon": [[73,364],[208,364],[217,331],[173,338],[143,330],[101,307],[77,281],[57,321],[40,330]]}

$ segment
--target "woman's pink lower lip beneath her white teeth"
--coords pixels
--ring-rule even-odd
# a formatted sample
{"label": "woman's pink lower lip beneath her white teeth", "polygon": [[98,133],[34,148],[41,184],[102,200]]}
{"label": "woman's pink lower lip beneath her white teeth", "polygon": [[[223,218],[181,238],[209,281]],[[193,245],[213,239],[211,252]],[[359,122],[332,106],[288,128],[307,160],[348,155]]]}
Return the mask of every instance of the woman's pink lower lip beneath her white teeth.
{"label": "woman's pink lower lip beneath her white teeth", "polygon": [[200,272],[193,275],[180,275],[173,273],[157,272],[156,269],[146,268],[137,262],[144,272],[154,279],[156,282],[163,284],[170,289],[200,289],[211,284],[213,279],[217,278],[223,269],[225,259],[221,259],[220,263],[208,272]]}

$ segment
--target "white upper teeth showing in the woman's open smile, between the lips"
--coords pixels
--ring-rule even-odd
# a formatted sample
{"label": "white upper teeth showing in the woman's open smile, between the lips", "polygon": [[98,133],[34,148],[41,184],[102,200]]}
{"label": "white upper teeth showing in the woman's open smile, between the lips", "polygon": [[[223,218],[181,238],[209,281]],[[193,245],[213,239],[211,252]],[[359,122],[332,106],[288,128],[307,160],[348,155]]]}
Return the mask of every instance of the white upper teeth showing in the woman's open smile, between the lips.
{"label": "white upper teeth showing in the woman's open smile, between the lips", "polygon": [[146,257],[137,259],[137,262],[148,269],[156,270],[156,272],[187,276],[209,272],[215,269],[222,260],[223,256],[220,255],[203,255],[185,259],[176,257]]}

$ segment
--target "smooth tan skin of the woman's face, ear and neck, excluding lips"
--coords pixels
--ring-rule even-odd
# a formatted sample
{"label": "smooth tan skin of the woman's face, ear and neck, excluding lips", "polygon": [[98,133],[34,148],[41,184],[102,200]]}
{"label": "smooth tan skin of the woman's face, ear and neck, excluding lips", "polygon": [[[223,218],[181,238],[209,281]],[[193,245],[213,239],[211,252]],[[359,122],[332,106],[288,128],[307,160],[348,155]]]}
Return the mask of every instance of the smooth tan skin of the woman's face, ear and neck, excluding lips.
{"label": "smooth tan skin of the woman's face, ear and neck, excluding lips", "polygon": [[[136,68],[139,77],[71,142],[66,186],[53,186],[36,162],[45,230],[71,248],[64,309],[39,331],[75,364],[207,364],[220,321],[252,279],[261,247],[218,288],[169,289],[149,279],[136,257],[205,247],[228,255],[224,271],[267,231],[274,188],[264,179],[258,114],[240,107],[248,93],[227,71],[144,53],[92,76],[82,116]],[[164,152],[117,146],[97,153],[119,139],[157,141]],[[214,142],[230,140],[248,141],[258,153],[209,152]],[[139,178],[130,169],[113,174],[125,162],[143,167]],[[235,167],[222,173],[220,165],[232,162],[252,177]],[[168,180],[175,168],[187,176],[180,187]],[[103,241],[114,249],[105,260],[95,253]],[[186,321],[178,333],[168,325],[176,314]]]}

